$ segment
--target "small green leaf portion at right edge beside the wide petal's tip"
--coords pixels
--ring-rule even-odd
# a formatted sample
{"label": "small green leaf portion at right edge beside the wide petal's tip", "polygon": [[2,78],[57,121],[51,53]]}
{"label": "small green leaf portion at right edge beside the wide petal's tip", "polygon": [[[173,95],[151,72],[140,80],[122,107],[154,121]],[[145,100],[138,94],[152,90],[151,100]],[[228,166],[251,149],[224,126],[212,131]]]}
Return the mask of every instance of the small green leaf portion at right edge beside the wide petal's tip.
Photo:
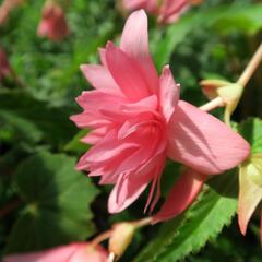
{"label": "small green leaf portion at right edge beside the wide petal's tip", "polygon": [[252,154],[262,153],[262,120],[249,118],[238,127],[240,134],[250,143]]}

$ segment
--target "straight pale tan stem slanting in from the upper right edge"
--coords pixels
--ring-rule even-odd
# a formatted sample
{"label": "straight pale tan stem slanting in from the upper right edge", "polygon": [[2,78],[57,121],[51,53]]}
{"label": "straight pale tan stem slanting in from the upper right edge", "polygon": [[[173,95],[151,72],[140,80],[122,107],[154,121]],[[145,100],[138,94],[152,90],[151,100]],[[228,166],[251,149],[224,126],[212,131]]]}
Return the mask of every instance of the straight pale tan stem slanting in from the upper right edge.
{"label": "straight pale tan stem slanting in from the upper right edge", "polygon": [[242,74],[237,81],[237,84],[241,86],[246,86],[249,82],[250,78],[259,67],[260,62],[262,61],[262,43],[260,44],[259,48],[257,49],[255,53],[251,58],[250,62],[243,70]]}

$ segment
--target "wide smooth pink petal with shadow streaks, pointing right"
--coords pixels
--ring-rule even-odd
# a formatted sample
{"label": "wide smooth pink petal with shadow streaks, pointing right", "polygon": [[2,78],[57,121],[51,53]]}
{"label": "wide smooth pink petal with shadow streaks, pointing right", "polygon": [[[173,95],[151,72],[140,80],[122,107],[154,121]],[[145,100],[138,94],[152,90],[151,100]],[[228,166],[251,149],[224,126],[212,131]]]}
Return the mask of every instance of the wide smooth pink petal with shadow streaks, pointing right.
{"label": "wide smooth pink petal with shadow streaks, pointing right", "polygon": [[245,160],[250,145],[215,117],[180,100],[168,124],[167,152],[176,162],[214,175]]}

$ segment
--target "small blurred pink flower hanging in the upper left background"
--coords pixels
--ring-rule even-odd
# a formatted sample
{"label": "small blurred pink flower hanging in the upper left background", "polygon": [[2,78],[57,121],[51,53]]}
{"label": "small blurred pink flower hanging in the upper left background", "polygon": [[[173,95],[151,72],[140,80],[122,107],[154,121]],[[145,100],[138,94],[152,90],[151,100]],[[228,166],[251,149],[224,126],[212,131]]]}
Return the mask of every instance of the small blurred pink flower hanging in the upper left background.
{"label": "small blurred pink flower hanging in the upper left background", "polygon": [[53,0],[47,1],[44,5],[37,34],[48,37],[50,40],[61,40],[69,35],[64,11]]}

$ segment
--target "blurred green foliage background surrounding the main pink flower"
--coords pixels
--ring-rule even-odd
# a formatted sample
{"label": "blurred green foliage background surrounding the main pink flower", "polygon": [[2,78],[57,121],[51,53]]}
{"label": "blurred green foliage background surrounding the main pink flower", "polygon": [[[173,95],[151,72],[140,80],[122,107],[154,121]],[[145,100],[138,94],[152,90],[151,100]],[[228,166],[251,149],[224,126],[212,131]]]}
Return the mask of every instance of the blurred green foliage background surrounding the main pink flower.
{"label": "blurred green foliage background surrounding the main pink flower", "polygon": [[[86,240],[114,222],[142,216],[143,198],[109,216],[110,188],[98,188],[95,179],[74,171],[87,146],[79,142],[85,131],[79,132],[69,120],[81,111],[75,97],[92,88],[80,64],[99,62],[98,47],[118,41],[127,13],[114,0],[66,2],[69,34],[62,39],[37,35],[44,0],[24,1],[0,25],[0,48],[9,63],[2,76],[0,68],[0,254]],[[150,46],[158,70],[170,64],[182,99],[200,106],[206,98],[199,82],[236,81],[261,43],[261,1],[206,0],[168,26],[150,16]],[[233,120],[262,117],[261,83],[260,67]],[[219,109],[214,114],[222,116]],[[170,166],[167,174],[176,169]],[[165,194],[168,181],[163,187]],[[218,238],[211,236],[184,261],[261,261],[258,221],[253,218],[242,237],[234,217]],[[136,254],[158,236],[159,227],[136,234],[121,261],[143,261]]]}

